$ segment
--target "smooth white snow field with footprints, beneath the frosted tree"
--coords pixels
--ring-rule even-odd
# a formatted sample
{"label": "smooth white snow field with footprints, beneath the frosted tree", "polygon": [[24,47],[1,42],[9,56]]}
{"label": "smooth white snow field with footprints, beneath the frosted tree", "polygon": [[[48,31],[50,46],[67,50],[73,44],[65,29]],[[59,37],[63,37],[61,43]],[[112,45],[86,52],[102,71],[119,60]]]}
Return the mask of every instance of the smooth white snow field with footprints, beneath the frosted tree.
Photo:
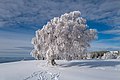
{"label": "smooth white snow field with footprints, beneath the frosted tree", "polygon": [[120,60],[43,60],[0,64],[0,80],[120,80]]}

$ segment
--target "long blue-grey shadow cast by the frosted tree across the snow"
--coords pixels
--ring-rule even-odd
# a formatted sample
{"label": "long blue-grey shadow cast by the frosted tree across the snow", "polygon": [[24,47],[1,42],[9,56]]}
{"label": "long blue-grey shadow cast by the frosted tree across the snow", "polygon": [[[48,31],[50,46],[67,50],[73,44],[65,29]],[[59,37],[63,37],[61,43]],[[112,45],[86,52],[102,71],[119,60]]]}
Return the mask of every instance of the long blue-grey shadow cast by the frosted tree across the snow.
{"label": "long blue-grey shadow cast by the frosted tree across the snow", "polygon": [[115,67],[117,65],[120,65],[120,61],[103,61],[103,60],[96,60],[96,61],[72,61],[69,63],[61,64],[61,67],[72,67],[72,66],[88,66],[89,68],[93,67]]}

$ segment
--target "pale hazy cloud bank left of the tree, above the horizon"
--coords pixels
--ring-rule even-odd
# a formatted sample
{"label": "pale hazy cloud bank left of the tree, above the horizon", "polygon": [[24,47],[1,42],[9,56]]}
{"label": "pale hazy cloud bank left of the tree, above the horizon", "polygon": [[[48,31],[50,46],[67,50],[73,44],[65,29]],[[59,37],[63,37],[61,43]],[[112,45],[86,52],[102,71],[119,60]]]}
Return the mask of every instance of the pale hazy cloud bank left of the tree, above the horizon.
{"label": "pale hazy cloud bank left of the tree, above the horizon", "polygon": [[30,57],[32,35],[0,30],[0,56]]}

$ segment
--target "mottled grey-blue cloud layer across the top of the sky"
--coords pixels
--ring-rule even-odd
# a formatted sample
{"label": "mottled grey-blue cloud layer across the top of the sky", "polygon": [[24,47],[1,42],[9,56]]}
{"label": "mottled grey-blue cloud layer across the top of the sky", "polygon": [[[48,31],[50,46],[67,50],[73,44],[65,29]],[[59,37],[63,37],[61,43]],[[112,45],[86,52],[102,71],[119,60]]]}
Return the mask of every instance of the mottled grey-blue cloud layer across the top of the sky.
{"label": "mottled grey-blue cloud layer across the top of the sky", "polygon": [[119,0],[0,0],[0,22],[44,24],[65,12],[80,10],[88,20],[120,25]]}

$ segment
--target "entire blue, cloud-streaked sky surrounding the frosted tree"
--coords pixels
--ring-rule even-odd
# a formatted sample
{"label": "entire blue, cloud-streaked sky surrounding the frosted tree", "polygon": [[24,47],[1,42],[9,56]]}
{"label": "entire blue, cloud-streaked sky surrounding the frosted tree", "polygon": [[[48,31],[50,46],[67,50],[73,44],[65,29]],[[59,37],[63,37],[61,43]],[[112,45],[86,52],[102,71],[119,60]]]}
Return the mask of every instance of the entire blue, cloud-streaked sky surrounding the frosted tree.
{"label": "entire blue, cloud-streaked sky surrounding the frosted tree", "polygon": [[120,0],[0,0],[0,56],[30,56],[35,31],[75,10],[98,31],[89,50],[120,50]]}

